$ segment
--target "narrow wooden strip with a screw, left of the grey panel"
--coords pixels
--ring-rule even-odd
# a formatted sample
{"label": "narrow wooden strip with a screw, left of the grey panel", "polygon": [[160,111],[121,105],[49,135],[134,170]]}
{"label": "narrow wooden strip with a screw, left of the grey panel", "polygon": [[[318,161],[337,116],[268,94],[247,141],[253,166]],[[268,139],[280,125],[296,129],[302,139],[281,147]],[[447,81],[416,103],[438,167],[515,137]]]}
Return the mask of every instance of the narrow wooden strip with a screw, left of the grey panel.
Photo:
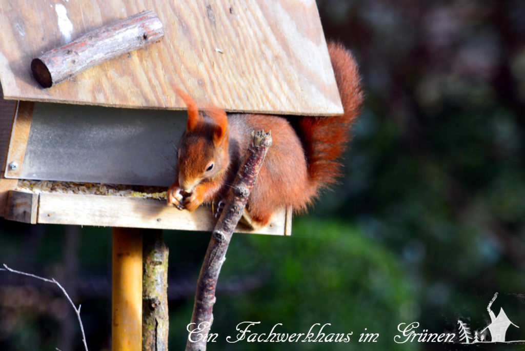
{"label": "narrow wooden strip with a screw, left of the grey panel", "polygon": [[[9,150],[6,160],[6,178],[18,178],[20,175],[20,170],[22,169],[26,153],[27,139],[29,139],[34,106],[35,103],[32,101],[19,101],[16,107],[13,132],[9,141]],[[18,167],[10,168],[9,164],[12,162],[16,162]]]}

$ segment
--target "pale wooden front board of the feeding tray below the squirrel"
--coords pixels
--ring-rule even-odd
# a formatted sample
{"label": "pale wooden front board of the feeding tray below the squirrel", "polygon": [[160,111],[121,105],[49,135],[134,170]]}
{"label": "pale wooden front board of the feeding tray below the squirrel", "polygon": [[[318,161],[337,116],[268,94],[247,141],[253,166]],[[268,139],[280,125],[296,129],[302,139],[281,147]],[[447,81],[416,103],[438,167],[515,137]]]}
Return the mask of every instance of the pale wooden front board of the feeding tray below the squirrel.
{"label": "pale wooden front board of the feeding tray below the squirrel", "polygon": [[[202,206],[188,212],[150,199],[58,193],[39,196],[38,223],[212,231],[217,221],[211,208]],[[235,231],[285,235],[285,218],[286,211],[282,209],[265,228],[251,231],[239,224]]]}

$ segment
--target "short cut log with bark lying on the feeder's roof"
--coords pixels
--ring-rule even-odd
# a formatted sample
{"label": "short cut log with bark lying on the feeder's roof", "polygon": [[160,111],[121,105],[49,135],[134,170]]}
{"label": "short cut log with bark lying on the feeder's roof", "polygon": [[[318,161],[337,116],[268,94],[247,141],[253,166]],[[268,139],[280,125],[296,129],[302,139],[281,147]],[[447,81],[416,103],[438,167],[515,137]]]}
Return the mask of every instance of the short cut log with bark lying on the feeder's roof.
{"label": "short cut log with bark lying on the feeder's roof", "polygon": [[111,58],[158,42],[164,29],[149,10],[91,30],[65,46],[31,61],[33,76],[44,88],[58,84]]}

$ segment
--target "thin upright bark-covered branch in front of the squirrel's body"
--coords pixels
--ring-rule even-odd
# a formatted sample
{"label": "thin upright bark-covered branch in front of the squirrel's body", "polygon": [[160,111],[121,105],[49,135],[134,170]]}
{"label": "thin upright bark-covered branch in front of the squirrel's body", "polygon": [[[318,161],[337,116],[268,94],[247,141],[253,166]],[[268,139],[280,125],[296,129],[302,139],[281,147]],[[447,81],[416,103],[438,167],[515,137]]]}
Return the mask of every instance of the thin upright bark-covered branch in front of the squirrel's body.
{"label": "thin upright bark-covered branch in front of the squirrel's body", "polygon": [[220,268],[224,263],[235,226],[243,215],[251,188],[253,188],[270,145],[270,132],[265,133],[260,130],[255,133],[253,144],[248,148],[249,156],[239,168],[233,188],[226,199],[225,208],[215,225],[197,281],[192,320],[187,328],[189,334],[186,351],[206,350],[209,329],[213,323],[215,288]]}

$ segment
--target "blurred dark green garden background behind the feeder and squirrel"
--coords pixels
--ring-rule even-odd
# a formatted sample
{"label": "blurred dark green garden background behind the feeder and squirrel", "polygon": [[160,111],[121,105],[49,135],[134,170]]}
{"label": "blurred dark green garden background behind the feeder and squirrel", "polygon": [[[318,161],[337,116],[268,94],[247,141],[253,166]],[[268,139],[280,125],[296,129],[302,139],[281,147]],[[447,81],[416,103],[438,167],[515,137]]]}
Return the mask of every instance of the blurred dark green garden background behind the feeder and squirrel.
{"label": "blurred dark green garden background behind the feeder and squirrel", "polygon": [[[525,339],[525,2],[318,0],[327,38],[351,48],[365,105],[346,177],[294,220],[291,238],[233,237],[209,349],[440,350],[395,344],[399,323],[484,328],[495,292]],[[170,347],[182,349],[209,233],[165,231]],[[90,350],[110,347],[111,231],[0,220],[0,260],[55,277],[82,304]],[[514,294],[514,295],[513,295]],[[517,294],[517,295],[516,295]],[[227,344],[254,332],[353,332],[352,342]],[[367,328],[377,343],[358,344]],[[421,329],[419,330],[421,332]],[[0,272],[0,349],[82,349],[50,284]],[[495,347],[520,349],[523,345]],[[484,349],[491,349],[489,346]]]}

